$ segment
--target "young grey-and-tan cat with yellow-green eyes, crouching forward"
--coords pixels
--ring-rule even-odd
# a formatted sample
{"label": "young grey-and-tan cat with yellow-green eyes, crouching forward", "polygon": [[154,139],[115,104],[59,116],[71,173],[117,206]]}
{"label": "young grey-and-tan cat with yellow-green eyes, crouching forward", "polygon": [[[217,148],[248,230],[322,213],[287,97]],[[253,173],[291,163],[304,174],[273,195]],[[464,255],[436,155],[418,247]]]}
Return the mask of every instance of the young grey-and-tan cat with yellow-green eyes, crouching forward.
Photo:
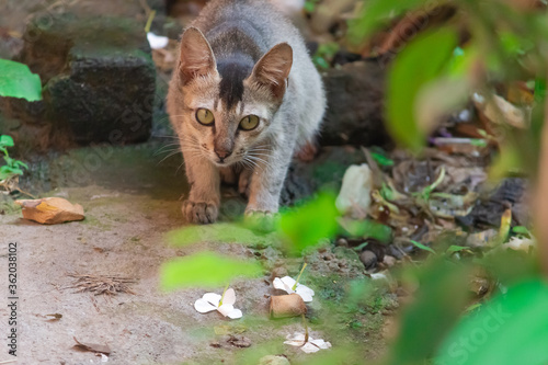
{"label": "young grey-and-tan cat with yellow-green eyes, crouching forward", "polygon": [[191,190],[183,215],[217,220],[220,182],[246,215],[277,213],[294,151],[319,130],[326,95],[297,28],[266,0],[213,0],[183,32],[167,106]]}

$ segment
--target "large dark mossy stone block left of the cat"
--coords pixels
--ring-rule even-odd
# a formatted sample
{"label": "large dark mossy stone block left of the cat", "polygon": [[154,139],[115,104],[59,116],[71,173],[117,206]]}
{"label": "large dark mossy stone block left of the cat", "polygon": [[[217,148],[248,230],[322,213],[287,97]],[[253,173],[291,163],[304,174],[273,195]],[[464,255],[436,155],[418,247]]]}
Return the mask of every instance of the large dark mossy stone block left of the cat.
{"label": "large dark mossy stone block left of the cat", "polygon": [[142,24],[64,13],[30,23],[23,38],[20,60],[44,85],[33,121],[45,119],[56,135],[64,130],[79,144],[150,136],[156,69]]}

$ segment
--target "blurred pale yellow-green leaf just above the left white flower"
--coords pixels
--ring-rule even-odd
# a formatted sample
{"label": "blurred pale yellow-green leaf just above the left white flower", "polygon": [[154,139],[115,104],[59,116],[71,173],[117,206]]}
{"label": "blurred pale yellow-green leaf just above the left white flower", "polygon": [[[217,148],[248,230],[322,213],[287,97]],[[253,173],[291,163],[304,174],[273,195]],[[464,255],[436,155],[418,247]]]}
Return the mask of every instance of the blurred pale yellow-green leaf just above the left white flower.
{"label": "blurred pale yellow-green leaf just above the left white flower", "polygon": [[254,260],[237,260],[213,252],[198,252],[164,263],[160,270],[165,290],[183,287],[218,287],[236,277],[259,277],[261,265]]}

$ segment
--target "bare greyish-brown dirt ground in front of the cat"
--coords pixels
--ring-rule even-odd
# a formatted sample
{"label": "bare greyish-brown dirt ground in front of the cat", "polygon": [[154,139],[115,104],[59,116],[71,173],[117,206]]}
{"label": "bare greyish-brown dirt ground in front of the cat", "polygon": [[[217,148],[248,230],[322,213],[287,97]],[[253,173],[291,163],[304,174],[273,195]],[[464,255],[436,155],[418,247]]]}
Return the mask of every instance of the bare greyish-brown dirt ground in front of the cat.
{"label": "bare greyish-brown dirt ground in front of the cat", "polygon": [[[185,248],[165,243],[164,235],[182,226],[180,197],[186,191],[179,157],[159,163],[157,145],[123,148],[87,148],[33,163],[31,178],[23,186],[39,196],[61,196],[84,207],[85,220],[42,226],[21,218],[5,199],[0,210],[3,303],[1,327],[7,329],[8,244],[18,243],[18,364],[242,364],[244,351],[274,343],[271,354],[283,353],[290,360],[305,358],[298,349],[283,345],[288,333],[301,331],[300,319],[272,321],[267,318],[267,296],[272,288],[265,277],[239,281],[237,308],[243,318],[230,321],[216,312],[201,315],[194,301],[205,289],[163,293],[159,288],[162,262],[196,250],[210,249],[232,256],[267,256],[269,248],[203,242]],[[176,171],[176,173],[175,173]],[[270,253],[269,253],[270,252]],[[274,252],[274,256],[277,253]],[[328,259],[323,259],[328,260]],[[320,260],[320,261],[323,261]],[[320,267],[320,266],[317,266]],[[298,264],[288,266],[294,275]],[[135,292],[113,297],[77,293],[69,274],[119,275],[135,278]],[[336,273],[329,266],[310,271],[310,280],[320,283]],[[347,275],[342,275],[347,276]],[[324,281],[326,282],[326,281]],[[334,283],[335,281],[333,281]],[[340,284],[338,284],[340,285]],[[330,338],[321,331],[322,306],[333,296],[327,287],[316,287],[311,306],[312,335],[330,341],[333,347],[352,342],[365,343],[368,357],[377,357],[384,345],[380,313],[366,313],[358,331],[347,338]],[[330,292],[331,290],[331,292]],[[221,292],[219,288],[216,292]],[[322,298],[326,300],[322,301]],[[59,313],[58,320],[50,320]],[[347,318],[341,319],[341,327]],[[319,326],[315,326],[317,322]],[[227,327],[228,326],[228,327]],[[225,332],[243,335],[251,347],[226,344]],[[365,334],[364,334],[365,333]],[[2,346],[7,346],[5,334]],[[106,344],[109,357],[81,352],[72,346],[81,342]],[[220,346],[220,347],[219,347]],[[12,360],[5,347],[0,363]],[[243,362],[244,363],[244,362]]]}

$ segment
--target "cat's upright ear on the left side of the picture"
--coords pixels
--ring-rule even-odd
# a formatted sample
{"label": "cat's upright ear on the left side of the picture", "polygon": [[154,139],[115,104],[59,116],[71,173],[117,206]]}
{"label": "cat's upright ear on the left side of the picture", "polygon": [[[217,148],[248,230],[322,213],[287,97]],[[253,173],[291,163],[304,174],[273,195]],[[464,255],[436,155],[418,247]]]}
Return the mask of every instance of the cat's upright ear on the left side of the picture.
{"label": "cat's upright ear on the left side of the picture", "polygon": [[186,84],[196,77],[216,73],[216,61],[209,43],[197,27],[189,27],[181,38],[179,72]]}

